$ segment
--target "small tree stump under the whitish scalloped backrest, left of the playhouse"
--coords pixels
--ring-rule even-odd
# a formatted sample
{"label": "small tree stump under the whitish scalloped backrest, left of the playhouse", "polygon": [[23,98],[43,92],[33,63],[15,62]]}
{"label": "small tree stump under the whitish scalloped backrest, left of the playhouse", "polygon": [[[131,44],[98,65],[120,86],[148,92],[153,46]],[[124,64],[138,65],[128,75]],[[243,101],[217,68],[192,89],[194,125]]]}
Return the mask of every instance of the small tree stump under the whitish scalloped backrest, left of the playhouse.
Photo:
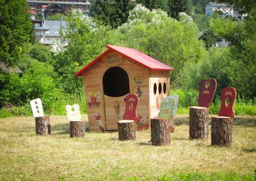
{"label": "small tree stump under the whitish scalloped backrest, left of the playhouse", "polygon": [[82,137],[85,134],[84,121],[70,121],[70,138]]}

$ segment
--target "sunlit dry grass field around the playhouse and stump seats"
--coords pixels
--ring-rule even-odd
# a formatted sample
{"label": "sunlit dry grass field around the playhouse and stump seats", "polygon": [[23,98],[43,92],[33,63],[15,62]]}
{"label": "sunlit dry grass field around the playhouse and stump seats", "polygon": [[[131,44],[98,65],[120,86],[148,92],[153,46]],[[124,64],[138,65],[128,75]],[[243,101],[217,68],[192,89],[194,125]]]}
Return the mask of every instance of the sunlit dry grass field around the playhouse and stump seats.
{"label": "sunlit dry grass field around the playhouse and stump seats", "polygon": [[211,126],[208,140],[189,140],[188,122],[176,117],[171,145],[156,147],[150,131],[70,139],[65,116],[51,116],[47,136],[36,136],[33,117],[0,119],[0,180],[255,180],[256,117],[234,119],[228,148],[211,147]]}

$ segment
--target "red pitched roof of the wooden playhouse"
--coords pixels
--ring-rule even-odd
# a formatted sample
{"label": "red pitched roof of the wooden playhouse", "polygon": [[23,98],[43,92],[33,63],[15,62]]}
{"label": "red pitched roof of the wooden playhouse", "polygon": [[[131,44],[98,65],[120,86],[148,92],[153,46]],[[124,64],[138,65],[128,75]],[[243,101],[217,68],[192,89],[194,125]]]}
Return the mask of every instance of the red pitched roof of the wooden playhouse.
{"label": "red pitched roof of the wooden playhouse", "polygon": [[85,66],[83,69],[81,69],[79,72],[76,73],[76,76],[83,75],[83,72],[86,71],[86,69],[90,68],[93,64],[95,64],[101,57],[106,55],[110,50],[114,50],[115,52],[118,52],[128,59],[131,59],[132,61],[140,64],[141,66],[144,66],[145,68],[152,69],[152,70],[170,70],[174,71],[173,68],[170,66],[167,66],[166,64],[163,64],[162,62],[157,61],[156,59],[153,59],[152,57],[149,57],[148,55],[145,55],[141,53],[138,50],[135,50],[134,48],[126,48],[126,47],[117,47],[113,45],[106,45],[108,47],[108,50],[103,52],[99,55],[96,59],[94,59],[92,62],[90,62],[87,66]]}

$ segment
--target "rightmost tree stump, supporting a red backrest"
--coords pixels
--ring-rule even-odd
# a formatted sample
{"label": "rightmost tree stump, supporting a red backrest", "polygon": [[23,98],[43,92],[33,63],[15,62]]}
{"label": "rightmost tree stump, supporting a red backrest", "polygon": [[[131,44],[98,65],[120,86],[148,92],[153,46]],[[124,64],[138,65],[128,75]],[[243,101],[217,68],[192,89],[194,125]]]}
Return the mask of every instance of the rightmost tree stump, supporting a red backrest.
{"label": "rightmost tree stump, supporting a red backrest", "polygon": [[211,119],[211,145],[232,145],[232,118],[216,116]]}

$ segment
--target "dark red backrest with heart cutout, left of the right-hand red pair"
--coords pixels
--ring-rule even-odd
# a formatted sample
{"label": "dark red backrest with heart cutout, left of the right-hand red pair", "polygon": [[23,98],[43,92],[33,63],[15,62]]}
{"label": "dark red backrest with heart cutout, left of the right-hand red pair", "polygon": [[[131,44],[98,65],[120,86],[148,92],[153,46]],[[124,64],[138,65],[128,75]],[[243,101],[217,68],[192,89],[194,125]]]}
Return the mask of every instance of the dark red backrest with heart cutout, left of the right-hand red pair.
{"label": "dark red backrest with heart cutout, left of the right-hand red pair", "polygon": [[[207,83],[210,83],[209,86],[207,86]],[[212,98],[216,91],[216,87],[217,82],[214,78],[201,80],[199,87],[198,106],[204,108],[210,107]]]}

